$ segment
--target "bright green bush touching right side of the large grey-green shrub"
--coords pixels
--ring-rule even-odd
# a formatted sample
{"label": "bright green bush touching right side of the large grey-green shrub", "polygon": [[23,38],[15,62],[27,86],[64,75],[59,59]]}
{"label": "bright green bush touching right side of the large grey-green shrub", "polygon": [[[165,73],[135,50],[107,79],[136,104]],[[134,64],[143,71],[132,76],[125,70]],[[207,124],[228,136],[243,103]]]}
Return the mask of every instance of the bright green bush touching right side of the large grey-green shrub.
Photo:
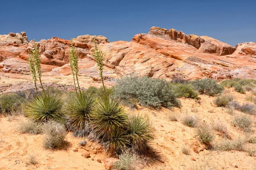
{"label": "bright green bush touching right side of the large grey-green shrub", "polygon": [[172,86],[177,97],[198,99],[198,92],[191,84],[172,84]]}

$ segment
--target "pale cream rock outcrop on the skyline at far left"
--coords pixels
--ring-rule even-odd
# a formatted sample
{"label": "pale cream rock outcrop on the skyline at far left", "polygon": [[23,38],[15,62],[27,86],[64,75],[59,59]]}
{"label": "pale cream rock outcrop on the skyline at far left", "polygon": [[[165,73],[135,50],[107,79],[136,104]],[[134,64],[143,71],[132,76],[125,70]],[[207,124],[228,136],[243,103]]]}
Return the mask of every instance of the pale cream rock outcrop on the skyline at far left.
{"label": "pale cream rock outcrop on the skyline at far left", "polygon": [[25,44],[29,43],[26,32],[13,33],[10,32],[8,35],[0,35],[0,46],[10,44]]}

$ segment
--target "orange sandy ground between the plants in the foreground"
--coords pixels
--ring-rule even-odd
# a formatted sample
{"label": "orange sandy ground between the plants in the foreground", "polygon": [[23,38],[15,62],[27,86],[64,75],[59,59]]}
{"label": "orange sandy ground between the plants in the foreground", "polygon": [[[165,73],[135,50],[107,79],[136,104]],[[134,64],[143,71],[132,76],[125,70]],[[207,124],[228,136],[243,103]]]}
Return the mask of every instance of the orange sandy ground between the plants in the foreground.
{"label": "orange sandy ground between the plants in the foreground", "polygon": [[[229,90],[236,97],[236,100],[245,102],[245,94],[239,94],[233,90]],[[180,121],[184,115],[198,116],[202,122],[207,122],[209,125],[213,121],[219,120],[227,126],[229,136],[232,139],[245,137],[245,133],[238,127],[234,127],[230,122],[233,116],[227,113],[226,108],[218,108],[213,104],[214,97],[200,95],[201,103],[199,104],[194,99],[180,99],[181,108],[150,110],[140,107],[135,110],[136,113],[143,113],[151,118],[152,125],[155,129],[155,140],[153,147],[163,156],[164,163],[145,167],[147,170],[215,170],[215,169],[239,169],[253,170],[256,168],[256,157],[248,156],[245,152],[240,151],[213,151],[204,149],[204,145],[200,144],[196,137],[196,129],[183,125]],[[128,108],[126,110],[129,111]],[[178,115],[178,121],[172,122],[169,120],[169,114],[175,113]],[[244,114],[237,112],[236,114]],[[251,116],[255,121],[255,116]],[[11,119],[11,120],[9,120]],[[102,162],[108,156],[105,155],[102,149],[97,150],[96,143],[88,142],[86,147],[80,147],[78,152],[73,152],[73,147],[82,139],[67,135],[67,140],[72,146],[67,150],[46,150],[42,147],[42,135],[20,134],[17,131],[18,122],[25,119],[23,116],[14,119],[8,117],[0,118],[0,169],[1,170],[104,170],[104,164],[99,163],[96,159],[101,159]],[[256,130],[253,124],[251,134]],[[215,132],[215,140],[218,141],[222,136]],[[171,137],[175,138],[174,141]],[[189,155],[184,155],[181,148],[186,145],[189,147]],[[199,153],[193,151],[198,150]],[[81,153],[84,150],[90,152],[91,158],[84,158]],[[29,154],[35,154],[38,164],[27,165]],[[94,158],[94,161],[92,160]],[[194,158],[195,161],[192,161]],[[238,168],[236,168],[236,165]]]}

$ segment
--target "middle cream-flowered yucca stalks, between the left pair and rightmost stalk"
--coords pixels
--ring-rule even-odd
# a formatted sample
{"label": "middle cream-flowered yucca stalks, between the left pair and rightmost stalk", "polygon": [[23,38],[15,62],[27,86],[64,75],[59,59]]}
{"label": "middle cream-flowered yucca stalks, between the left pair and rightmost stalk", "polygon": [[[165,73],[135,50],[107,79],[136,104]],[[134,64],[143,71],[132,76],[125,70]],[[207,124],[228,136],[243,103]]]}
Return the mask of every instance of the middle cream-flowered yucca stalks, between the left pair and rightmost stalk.
{"label": "middle cream-flowered yucca stalks, between the left pair and rightmost stalk", "polygon": [[[76,90],[76,82],[77,82],[77,86],[78,86],[79,92],[81,94],[81,90],[80,90],[80,86],[79,86],[79,82],[78,82],[78,72],[79,72],[78,56],[76,54],[76,49],[74,48],[72,39],[71,39],[71,48],[70,48],[70,51],[68,54],[69,54],[69,60],[70,60],[69,66],[70,66],[71,72],[73,74],[75,90]],[[76,93],[77,93],[77,91],[76,91]]]}

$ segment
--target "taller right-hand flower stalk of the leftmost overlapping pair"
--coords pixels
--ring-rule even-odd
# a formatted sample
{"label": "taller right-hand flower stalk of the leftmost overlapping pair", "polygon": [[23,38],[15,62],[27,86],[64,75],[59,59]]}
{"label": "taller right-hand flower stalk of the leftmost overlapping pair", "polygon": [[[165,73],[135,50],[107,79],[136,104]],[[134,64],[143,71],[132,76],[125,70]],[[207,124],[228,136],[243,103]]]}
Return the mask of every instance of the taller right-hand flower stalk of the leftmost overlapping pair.
{"label": "taller right-hand flower stalk of the leftmost overlapping pair", "polygon": [[[36,77],[38,77],[38,79],[41,83],[41,88],[44,91],[44,87],[43,87],[43,84],[42,84],[42,81],[41,81],[41,77],[42,77],[41,65],[40,65],[41,57],[40,57],[40,54],[39,54],[39,51],[38,51],[38,47],[35,44],[35,40],[34,40],[34,47],[32,49],[32,52],[29,53],[29,58],[31,58],[30,64],[31,65],[33,64],[32,68],[35,70],[35,72],[33,71],[33,74],[36,73]],[[33,75],[32,75],[32,77],[33,77]],[[45,91],[44,91],[44,94],[45,94]]]}

